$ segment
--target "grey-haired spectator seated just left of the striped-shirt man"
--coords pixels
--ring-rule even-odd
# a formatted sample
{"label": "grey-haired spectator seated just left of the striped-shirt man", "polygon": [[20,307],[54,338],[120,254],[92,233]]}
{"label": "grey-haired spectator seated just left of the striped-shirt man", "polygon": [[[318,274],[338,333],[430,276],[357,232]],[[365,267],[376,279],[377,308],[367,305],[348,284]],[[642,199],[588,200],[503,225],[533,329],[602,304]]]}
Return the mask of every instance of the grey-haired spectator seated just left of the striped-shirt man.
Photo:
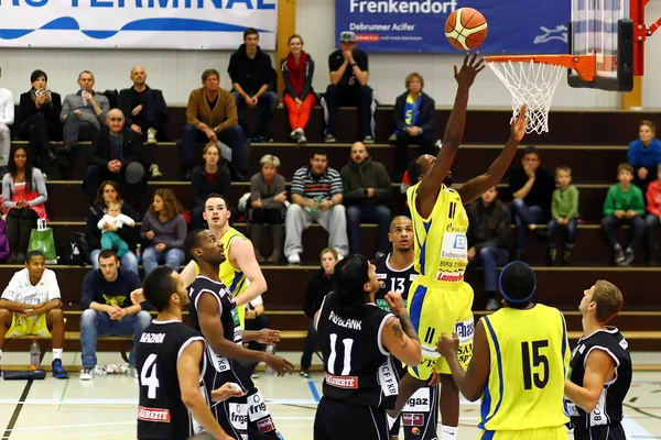
{"label": "grey-haired spectator seated just left of the striped-shirt man", "polygon": [[278,174],[280,160],[278,156],[267,154],[259,161],[261,170],[250,178],[250,210],[248,231],[250,241],[254,246],[254,256],[259,263],[264,262],[260,254],[261,234],[264,223],[271,228],[271,238],[273,241],[273,251],[266,260],[269,263],[280,262],[280,252],[282,250],[284,213],[286,201],[286,191],[284,190],[284,177]]}

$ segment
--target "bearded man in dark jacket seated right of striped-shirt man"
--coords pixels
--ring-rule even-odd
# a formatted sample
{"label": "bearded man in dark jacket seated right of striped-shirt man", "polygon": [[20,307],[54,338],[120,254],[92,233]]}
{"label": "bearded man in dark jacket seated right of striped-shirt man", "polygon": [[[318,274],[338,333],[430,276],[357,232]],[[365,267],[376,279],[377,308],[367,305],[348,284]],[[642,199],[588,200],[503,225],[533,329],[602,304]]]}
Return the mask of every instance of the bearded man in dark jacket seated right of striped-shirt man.
{"label": "bearded man in dark jacket seated right of striped-shirt man", "polygon": [[349,163],[342,167],[343,200],[347,210],[350,253],[360,254],[360,222],[377,222],[377,257],[392,248],[388,241],[392,213],[386,206],[392,182],[386,167],[369,155],[362,142],[351,145]]}

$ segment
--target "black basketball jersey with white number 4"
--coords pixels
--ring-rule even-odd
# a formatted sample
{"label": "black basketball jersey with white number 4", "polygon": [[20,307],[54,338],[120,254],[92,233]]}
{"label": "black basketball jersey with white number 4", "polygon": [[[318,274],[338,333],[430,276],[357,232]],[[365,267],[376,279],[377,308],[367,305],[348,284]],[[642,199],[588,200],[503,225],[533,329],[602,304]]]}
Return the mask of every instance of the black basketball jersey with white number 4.
{"label": "black basketball jersey with white number 4", "polygon": [[[180,353],[192,342],[203,341],[199,332],[180,321],[152,321],[138,346],[140,400],[138,439],[185,440],[202,431],[182,402],[176,363]],[[199,388],[210,402],[204,384],[206,352],[199,365]]]}

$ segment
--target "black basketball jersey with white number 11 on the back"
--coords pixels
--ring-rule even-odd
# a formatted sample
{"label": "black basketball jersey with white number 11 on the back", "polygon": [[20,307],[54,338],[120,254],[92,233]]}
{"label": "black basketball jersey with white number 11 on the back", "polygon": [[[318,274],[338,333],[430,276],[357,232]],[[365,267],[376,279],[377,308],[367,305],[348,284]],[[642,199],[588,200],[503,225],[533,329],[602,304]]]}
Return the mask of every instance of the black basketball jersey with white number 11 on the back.
{"label": "black basketball jersey with white number 11 on the back", "polygon": [[364,319],[344,318],[330,309],[334,297],[330,293],[324,298],[316,322],[324,355],[324,396],[394,408],[398,376],[380,339],[386,320],[393,315],[368,304]]}

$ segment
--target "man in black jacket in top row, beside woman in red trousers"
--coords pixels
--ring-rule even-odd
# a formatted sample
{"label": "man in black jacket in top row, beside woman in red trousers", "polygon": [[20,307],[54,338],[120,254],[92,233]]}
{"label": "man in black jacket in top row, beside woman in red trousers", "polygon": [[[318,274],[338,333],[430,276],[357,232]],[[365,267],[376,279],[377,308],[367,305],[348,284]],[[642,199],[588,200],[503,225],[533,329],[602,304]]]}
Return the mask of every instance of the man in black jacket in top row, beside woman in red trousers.
{"label": "man in black jacket in top row, beside woman in red trousers", "polygon": [[231,96],[235,98],[239,112],[239,124],[243,135],[250,138],[243,110],[248,107],[262,109],[257,132],[251,136],[252,142],[273,142],[271,122],[278,107],[275,87],[275,70],[271,57],[259,47],[259,33],[254,28],[243,31],[243,44],[229,57],[227,73],[231,79]]}

